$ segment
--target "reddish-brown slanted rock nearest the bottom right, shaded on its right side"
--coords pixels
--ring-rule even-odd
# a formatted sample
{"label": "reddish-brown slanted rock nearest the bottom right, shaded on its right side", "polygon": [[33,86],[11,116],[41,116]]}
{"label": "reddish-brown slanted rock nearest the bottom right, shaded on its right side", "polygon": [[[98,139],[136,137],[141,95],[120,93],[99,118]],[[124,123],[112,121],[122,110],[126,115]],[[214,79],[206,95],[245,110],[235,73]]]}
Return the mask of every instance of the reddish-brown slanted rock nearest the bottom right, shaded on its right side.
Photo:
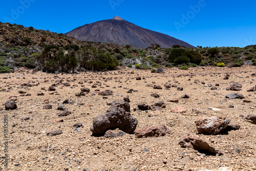
{"label": "reddish-brown slanted rock nearest the bottom right, shaded on its right side", "polygon": [[181,147],[194,148],[196,150],[207,151],[210,153],[218,153],[215,147],[210,146],[206,141],[200,139],[198,136],[188,134],[180,138],[179,144]]}

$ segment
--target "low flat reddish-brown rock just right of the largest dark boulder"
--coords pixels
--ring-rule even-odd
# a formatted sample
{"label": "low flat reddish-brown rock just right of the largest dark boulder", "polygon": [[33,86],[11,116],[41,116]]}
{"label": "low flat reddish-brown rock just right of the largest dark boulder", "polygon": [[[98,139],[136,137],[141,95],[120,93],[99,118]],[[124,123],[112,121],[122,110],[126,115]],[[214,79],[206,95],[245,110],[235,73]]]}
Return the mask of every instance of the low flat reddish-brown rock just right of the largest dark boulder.
{"label": "low flat reddish-brown rock just right of the largest dark boulder", "polygon": [[159,136],[165,136],[166,134],[171,134],[172,131],[170,131],[164,124],[160,126],[145,126],[142,127],[142,129],[137,130],[135,132],[135,136],[137,138],[142,137],[159,137]]}

